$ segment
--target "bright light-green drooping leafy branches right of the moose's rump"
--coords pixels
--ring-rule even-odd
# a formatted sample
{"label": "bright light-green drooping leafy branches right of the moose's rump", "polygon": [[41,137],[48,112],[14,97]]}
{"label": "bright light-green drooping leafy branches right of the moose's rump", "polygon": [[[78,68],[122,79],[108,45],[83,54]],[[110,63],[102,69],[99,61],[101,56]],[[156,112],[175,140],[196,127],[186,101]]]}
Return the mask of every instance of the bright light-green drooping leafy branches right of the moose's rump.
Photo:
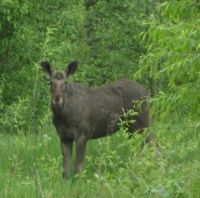
{"label": "bright light-green drooping leafy branches right of the moose's rump", "polygon": [[149,28],[142,38],[147,54],[141,57],[136,76],[150,82],[162,118],[176,110],[179,118],[199,119],[199,4],[173,1],[159,4],[157,9],[159,15],[145,22]]}

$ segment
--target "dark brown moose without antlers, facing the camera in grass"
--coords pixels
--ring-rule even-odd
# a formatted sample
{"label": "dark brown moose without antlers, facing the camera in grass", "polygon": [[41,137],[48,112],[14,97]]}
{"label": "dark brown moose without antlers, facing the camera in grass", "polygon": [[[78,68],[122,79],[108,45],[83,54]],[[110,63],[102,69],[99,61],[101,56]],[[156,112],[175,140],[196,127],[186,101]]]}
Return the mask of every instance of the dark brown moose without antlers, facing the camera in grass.
{"label": "dark brown moose without antlers, facing the camera in grass", "polygon": [[63,177],[69,178],[73,142],[76,143],[75,172],[81,172],[88,140],[111,135],[118,130],[124,111],[133,109],[136,101],[143,101],[130,133],[144,131],[149,126],[148,91],[132,80],[90,88],[80,83],[68,83],[78,62],[71,62],[64,71],[54,70],[47,61],[41,67],[51,81],[51,109],[53,124],[59,135],[63,154]]}

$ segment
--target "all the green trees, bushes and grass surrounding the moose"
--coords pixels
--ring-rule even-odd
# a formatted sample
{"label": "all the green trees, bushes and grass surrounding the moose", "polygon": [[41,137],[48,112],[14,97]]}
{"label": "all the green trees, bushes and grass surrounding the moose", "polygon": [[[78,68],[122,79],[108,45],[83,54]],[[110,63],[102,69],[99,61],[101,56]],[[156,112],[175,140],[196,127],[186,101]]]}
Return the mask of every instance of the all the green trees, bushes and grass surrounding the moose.
{"label": "all the green trees, bushes and grass surrounding the moose", "polygon": [[[199,1],[2,0],[0,19],[0,197],[200,197]],[[121,129],[63,181],[46,59],[78,60],[70,81],[149,88],[161,155]]]}

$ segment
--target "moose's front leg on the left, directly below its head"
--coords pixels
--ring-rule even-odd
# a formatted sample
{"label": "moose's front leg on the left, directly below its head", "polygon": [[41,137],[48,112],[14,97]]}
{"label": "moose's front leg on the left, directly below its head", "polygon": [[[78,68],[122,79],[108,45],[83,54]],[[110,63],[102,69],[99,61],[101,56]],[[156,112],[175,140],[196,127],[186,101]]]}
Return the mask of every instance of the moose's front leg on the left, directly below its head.
{"label": "moose's front leg on the left, directly below its head", "polygon": [[72,140],[61,141],[61,149],[63,154],[63,178],[67,179],[71,173],[71,161],[72,161]]}

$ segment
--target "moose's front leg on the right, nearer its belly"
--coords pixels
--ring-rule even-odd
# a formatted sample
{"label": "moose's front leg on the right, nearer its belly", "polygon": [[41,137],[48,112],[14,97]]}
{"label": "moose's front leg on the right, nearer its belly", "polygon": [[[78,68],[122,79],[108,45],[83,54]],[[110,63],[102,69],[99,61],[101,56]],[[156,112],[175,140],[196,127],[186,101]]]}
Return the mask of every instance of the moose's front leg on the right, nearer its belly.
{"label": "moose's front leg on the right, nearer its belly", "polygon": [[87,139],[84,136],[78,137],[76,140],[76,165],[75,172],[80,173],[83,168],[85,158]]}

